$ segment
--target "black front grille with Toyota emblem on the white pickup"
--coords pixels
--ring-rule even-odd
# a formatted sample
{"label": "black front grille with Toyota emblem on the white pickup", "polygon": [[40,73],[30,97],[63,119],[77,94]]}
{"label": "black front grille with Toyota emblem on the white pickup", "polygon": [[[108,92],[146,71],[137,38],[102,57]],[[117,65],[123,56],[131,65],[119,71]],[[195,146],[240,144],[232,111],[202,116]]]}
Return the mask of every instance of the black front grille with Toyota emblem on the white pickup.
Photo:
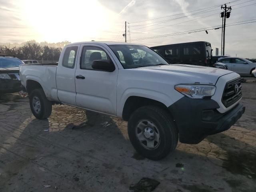
{"label": "black front grille with Toyota emblem on the white pickup", "polygon": [[242,97],[241,79],[237,78],[226,83],[222,95],[222,103],[225,107],[229,107]]}

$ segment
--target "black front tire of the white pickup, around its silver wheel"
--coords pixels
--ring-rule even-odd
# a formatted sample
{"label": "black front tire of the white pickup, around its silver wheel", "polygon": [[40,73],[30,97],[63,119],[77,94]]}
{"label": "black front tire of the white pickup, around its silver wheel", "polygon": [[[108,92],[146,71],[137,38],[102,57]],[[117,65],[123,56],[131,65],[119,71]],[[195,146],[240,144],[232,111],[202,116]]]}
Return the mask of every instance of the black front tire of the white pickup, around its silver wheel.
{"label": "black front tire of the white pickup, around its silver wheel", "polygon": [[[138,128],[140,122],[149,120],[155,125],[160,135],[160,142],[156,148],[146,148],[143,142],[138,139]],[[145,123],[146,123],[145,122]],[[139,127],[139,126],[138,126]],[[146,128],[145,128],[146,130]],[[145,132],[144,130],[144,132]],[[137,133],[136,133],[137,132]],[[146,135],[143,132],[143,136]],[[135,150],[142,156],[151,160],[160,160],[174,151],[178,144],[178,130],[170,114],[158,106],[143,106],[135,110],[128,120],[128,135]],[[155,145],[154,141],[154,145]]]}

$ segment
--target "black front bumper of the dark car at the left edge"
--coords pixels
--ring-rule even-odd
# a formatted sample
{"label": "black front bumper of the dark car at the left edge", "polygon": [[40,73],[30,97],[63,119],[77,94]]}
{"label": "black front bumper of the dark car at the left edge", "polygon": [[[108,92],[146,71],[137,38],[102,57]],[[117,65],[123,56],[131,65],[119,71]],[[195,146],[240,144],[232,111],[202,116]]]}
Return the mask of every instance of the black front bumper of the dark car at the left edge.
{"label": "black front bumper of the dark car at the left edge", "polygon": [[20,80],[0,78],[0,93],[15,93],[21,90]]}

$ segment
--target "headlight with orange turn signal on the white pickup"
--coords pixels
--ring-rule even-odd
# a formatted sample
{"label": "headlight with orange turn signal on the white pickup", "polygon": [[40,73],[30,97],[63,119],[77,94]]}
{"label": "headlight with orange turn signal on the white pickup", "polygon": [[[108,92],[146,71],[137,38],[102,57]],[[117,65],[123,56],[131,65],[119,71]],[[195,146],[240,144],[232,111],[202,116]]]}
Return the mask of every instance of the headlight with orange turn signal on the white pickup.
{"label": "headlight with orange turn signal on the white pickup", "polygon": [[216,87],[213,85],[200,84],[176,85],[174,88],[178,92],[192,99],[202,99],[207,96],[213,96],[216,90]]}

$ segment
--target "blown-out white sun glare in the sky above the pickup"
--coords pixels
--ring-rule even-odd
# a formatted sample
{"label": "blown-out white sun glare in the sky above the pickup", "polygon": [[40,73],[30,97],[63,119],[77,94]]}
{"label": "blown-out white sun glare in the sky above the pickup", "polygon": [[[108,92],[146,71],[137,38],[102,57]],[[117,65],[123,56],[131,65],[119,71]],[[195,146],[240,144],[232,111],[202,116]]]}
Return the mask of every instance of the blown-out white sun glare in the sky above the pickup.
{"label": "blown-out white sun glare in the sky above the pickup", "polygon": [[114,13],[96,0],[25,0],[22,12],[38,39],[49,42],[99,38],[114,18]]}

